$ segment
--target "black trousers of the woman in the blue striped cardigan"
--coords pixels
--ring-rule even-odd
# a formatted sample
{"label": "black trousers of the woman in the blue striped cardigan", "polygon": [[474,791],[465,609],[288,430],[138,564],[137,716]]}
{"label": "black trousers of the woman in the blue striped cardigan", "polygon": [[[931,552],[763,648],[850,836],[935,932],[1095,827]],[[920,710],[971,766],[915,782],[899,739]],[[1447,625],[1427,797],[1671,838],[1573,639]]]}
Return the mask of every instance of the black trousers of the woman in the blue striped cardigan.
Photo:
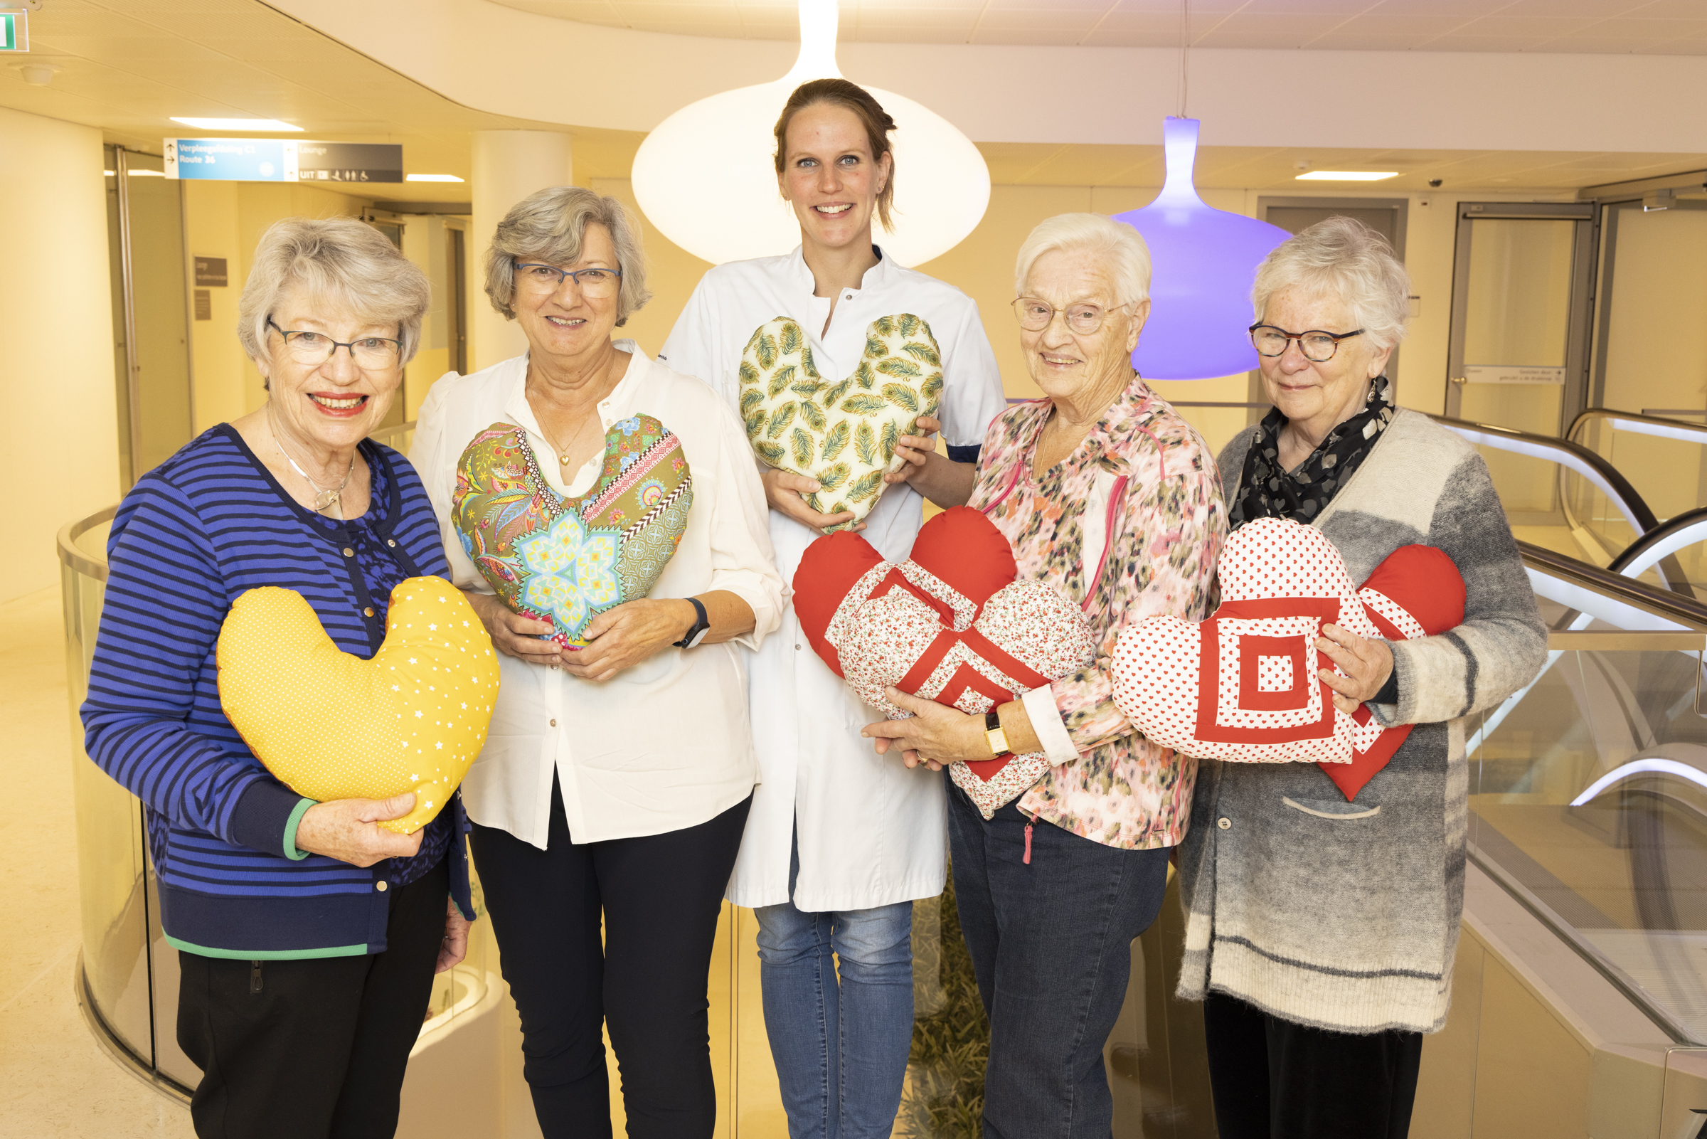
{"label": "black trousers of the woman in the blue striped cardigan", "polygon": [[179,951],[178,1047],[201,1069],[196,1136],[396,1134],[449,895],[449,859],[394,890],[384,953],[242,961]]}

